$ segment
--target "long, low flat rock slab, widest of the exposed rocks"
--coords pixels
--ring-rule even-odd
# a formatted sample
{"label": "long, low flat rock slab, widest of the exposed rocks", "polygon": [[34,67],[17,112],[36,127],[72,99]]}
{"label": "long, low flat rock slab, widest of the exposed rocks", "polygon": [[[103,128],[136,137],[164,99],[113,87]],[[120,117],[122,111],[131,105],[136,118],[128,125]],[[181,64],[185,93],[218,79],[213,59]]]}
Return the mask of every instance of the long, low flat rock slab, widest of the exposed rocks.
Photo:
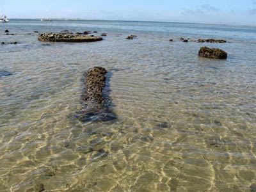
{"label": "long, low flat rock slab, widest of the exposed rocks", "polygon": [[67,35],[62,33],[44,33],[38,36],[42,42],[97,42],[103,40],[99,36]]}

